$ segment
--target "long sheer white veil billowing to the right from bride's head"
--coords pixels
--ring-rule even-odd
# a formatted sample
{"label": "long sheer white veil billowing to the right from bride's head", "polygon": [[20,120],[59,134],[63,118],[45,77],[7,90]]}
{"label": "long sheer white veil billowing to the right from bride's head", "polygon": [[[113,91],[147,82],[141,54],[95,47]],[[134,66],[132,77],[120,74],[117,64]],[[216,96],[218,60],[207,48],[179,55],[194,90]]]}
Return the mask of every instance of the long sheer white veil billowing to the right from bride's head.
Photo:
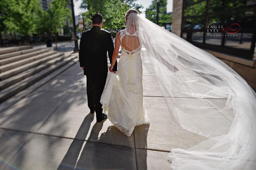
{"label": "long sheer white veil billowing to the right from bride's head", "polygon": [[143,64],[156,78],[173,120],[208,138],[188,150],[172,149],[172,168],[255,169],[256,94],[246,81],[139,14],[129,15],[126,27],[131,25],[143,43]]}

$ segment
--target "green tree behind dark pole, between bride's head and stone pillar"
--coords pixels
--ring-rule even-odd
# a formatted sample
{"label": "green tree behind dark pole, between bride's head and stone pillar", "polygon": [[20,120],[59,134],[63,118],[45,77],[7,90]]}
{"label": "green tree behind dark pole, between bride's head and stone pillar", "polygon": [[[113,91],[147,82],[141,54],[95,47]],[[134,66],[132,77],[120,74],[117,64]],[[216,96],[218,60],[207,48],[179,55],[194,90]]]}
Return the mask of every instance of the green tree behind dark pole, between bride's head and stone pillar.
{"label": "green tree behind dark pole, between bride's head and stone pillar", "polygon": [[[172,15],[166,12],[167,0],[160,0],[159,4],[159,25],[163,23],[172,22]],[[152,4],[146,9],[146,18],[153,23],[157,23],[157,1],[152,1]]]}

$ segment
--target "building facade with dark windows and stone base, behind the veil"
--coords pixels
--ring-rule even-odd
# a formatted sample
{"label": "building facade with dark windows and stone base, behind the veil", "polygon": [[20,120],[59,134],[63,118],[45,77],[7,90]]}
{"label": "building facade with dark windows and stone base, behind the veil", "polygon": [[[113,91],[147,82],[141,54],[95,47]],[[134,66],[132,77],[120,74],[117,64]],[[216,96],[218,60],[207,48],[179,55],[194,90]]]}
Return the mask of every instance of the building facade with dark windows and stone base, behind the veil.
{"label": "building facade with dark windows and stone base, behind the veil", "polygon": [[173,0],[172,32],[221,59],[256,90],[256,0]]}

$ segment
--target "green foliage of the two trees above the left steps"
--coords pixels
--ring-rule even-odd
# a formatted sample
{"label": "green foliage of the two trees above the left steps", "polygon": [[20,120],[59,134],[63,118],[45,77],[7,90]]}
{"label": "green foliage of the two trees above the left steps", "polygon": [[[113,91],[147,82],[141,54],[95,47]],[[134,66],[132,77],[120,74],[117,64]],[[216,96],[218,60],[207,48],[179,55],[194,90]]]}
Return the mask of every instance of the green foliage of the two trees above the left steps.
{"label": "green foliage of the two trees above the left steps", "polygon": [[67,19],[71,20],[68,4],[69,0],[54,0],[50,2],[50,8],[44,11],[40,0],[3,0],[0,21],[5,27],[1,24],[0,28],[24,36],[60,32]]}

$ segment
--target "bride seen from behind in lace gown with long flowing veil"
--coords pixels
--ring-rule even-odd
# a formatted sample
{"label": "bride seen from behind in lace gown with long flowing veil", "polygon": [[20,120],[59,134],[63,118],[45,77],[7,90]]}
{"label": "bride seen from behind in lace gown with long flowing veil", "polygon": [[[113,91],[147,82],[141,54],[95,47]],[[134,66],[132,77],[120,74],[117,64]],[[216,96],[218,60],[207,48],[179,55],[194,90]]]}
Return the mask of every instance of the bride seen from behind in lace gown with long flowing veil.
{"label": "bride seen from behind in lace gown with long flowing veil", "polygon": [[207,137],[187,150],[172,148],[168,155],[172,169],[255,169],[256,93],[246,81],[221,60],[136,10],[130,9],[125,20],[109,68],[121,45],[118,75],[108,73],[101,96],[110,121],[128,136],[136,125],[148,122],[143,64],[156,79],[172,119]]}

